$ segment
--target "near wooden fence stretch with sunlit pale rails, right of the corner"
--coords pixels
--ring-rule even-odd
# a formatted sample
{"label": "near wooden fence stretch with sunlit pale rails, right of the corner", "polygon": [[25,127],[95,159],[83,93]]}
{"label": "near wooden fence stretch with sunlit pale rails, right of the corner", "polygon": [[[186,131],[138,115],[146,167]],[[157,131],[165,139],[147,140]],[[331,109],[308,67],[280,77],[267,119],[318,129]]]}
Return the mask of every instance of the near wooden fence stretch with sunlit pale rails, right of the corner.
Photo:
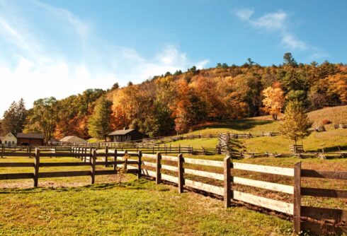
{"label": "near wooden fence stretch with sunlit pale rails, right of the corner", "polygon": [[[232,201],[241,201],[243,203],[249,203],[261,208],[268,208],[278,213],[285,213],[293,217],[294,231],[299,234],[302,229],[311,230],[311,232],[319,233],[319,225],[309,221],[304,221],[305,218],[312,220],[334,220],[335,222],[347,221],[347,211],[333,208],[316,208],[310,206],[302,206],[302,196],[319,196],[319,197],[334,197],[347,199],[346,190],[335,189],[314,189],[301,187],[302,177],[315,177],[326,179],[344,179],[347,180],[347,172],[335,172],[335,171],[320,171],[320,170],[305,170],[301,169],[301,163],[297,163],[293,168],[288,167],[273,167],[266,165],[252,165],[246,163],[232,163],[231,158],[227,157],[224,161],[216,160],[200,160],[192,158],[183,158],[183,154],[179,154],[177,157],[152,154],[142,154],[142,158],[147,158],[152,161],[142,161],[142,175],[154,177],[157,184],[163,180],[177,184],[178,192],[182,193],[184,188],[198,189],[207,193],[223,196],[224,206],[229,207]],[[168,163],[163,164],[166,161]],[[169,163],[176,163],[176,165],[169,165]],[[188,165],[188,167],[186,167]],[[217,167],[223,170],[224,174],[216,172],[207,172],[203,170],[194,169],[195,165],[205,165],[208,167]],[[152,170],[148,170],[152,168]],[[174,173],[174,175],[164,174],[164,171]],[[280,175],[286,177],[292,177],[294,179],[294,185],[278,184],[273,182],[265,182],[261,180],[247,179],[243,177],[232,176],[234,170],[244,170],[250,172],[261,172],[271,175]],[[189,179],[186,175],[195,175],[198,177],[205,177],[223,182],[223,187],[219,187],[213,184],[206,184],[203,182],[194,181]],[[261,189],[268,189],[271,191],[278,191],[284,194],[291,194],[294,201],[292,203],[278,201],[275,199],[269,199],[263,196],[256,196],[243,191],[236,191],[232,189],[234,184],[246,185],[249,187],[256,187]],[[347,227],[329,226],[329,230],[345,230]]]}

